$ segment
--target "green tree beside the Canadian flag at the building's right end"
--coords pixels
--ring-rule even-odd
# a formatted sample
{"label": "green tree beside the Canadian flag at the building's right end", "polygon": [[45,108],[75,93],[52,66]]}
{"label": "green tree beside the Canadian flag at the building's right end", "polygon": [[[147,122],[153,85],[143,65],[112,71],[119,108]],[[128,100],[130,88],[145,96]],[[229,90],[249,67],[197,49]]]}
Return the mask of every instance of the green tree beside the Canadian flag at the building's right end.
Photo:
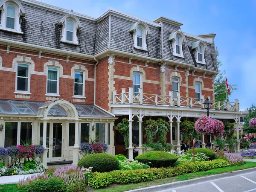
{"label": "green tree beside the Canadian flag at the building's right end", "polygon": [[[217,59],[217,67],[218,67],[218,75],[215,77],[214,81],[214,97],[216,101],[225,102],[226,101],[226,84],[225,84],[225,74],[226,71],[221,71],[219,68],[221,67],[222,63]],[[227,101],[229,101],[229,97],[231,94],[237,90],[237,84],[229,84],[230,94],[227,94]]]}

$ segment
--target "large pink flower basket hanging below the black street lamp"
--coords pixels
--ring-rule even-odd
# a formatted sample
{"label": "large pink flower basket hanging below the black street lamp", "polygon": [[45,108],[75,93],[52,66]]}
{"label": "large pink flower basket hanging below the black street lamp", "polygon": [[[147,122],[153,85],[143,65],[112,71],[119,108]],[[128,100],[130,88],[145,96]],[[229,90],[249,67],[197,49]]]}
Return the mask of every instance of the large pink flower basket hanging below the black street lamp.
{"label": "large pink flower basket hanging below the black street lamp", "polygon": [[223,134],[224,124],[217,119],[202,116],[195,122],[195,130],[199,134],[221,136]]}

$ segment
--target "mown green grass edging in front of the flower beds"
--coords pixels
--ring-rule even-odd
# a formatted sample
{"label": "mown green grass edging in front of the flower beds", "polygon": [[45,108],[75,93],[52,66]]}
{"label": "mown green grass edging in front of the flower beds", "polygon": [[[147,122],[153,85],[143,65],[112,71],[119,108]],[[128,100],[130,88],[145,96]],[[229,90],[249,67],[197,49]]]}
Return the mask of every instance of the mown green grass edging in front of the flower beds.
{"label": "mown green grass edging in front of the flower beds", "polygon": [[[225,173],[225,172],[237,171],[241,169],[249,169],[253,167],[256,167],[256,162],[246,161],[245,164],[242,166],[223,167],[218,169],[212,169],[206,172],[189,173],[185,175],[179,175],[177,177],[157,179],[157,180],[147,181],[147,182],[137,183],[137,184],[134,184],[134,183],[127,184],[127,185],[112,184],[102,189],[94,189],[91,187],[88,189],[89,189],[89,192],[92,192],[92,191],[93,192],[122,192],[122,191],[128,191],[132,189],[139,189],[143,187],[161,185],[165,183],[172,183],[180,180],[188,180],[195,177],[204,177],[204,176],[216,175],[216,174]],[[6,185],[0,185],[0,192],[26,192],[26,190],[17,188],[17,184],[6,184]]]}

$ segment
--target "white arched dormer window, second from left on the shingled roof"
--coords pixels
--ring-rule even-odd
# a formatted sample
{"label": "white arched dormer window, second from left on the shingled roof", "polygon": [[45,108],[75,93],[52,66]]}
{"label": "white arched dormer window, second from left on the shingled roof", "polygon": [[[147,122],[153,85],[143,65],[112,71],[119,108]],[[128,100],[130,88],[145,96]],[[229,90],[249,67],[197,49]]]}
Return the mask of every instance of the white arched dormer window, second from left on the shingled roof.
{"label": "white arched dormer window, second from left on the shingled roof", "polygon": [[65,15],[58,24],[62,26],[61,42],[79,45],[76,31],[81,29],[81,23],[73,11]]}

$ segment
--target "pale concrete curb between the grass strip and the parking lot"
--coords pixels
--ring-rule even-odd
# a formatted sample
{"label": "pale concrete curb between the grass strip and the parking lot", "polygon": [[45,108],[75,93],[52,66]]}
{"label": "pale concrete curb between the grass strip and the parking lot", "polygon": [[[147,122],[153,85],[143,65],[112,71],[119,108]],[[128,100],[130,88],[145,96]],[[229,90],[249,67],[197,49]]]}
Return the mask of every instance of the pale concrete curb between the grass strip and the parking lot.
{"label": "pale concrete curb between the grass strip and the parking lot", "polygon": [[166,184],[157,185],[157,186],[133,189],[133,190],[130,190],[127,192],[155,192],[157,190],[176,188],[176,187],[191,185],[191,184],[195,184],[195,183],[212,181],[212,180],[220,179],[223,177],[231,177],[231,176],[246,174],[246,173],[250,173],[250,172],[256,172],[256,167],[250,168],[250,169],[242,169],[242,170],[233,171],[233,172],[221,173],[218,175],[210,175],[210,176],[206,176],[206,177],[198,177],[198,178],[189,179],[189,180],[182,180],[182,181],[177,181],[177,182],[173,182],[173,183],[166,183]]}

